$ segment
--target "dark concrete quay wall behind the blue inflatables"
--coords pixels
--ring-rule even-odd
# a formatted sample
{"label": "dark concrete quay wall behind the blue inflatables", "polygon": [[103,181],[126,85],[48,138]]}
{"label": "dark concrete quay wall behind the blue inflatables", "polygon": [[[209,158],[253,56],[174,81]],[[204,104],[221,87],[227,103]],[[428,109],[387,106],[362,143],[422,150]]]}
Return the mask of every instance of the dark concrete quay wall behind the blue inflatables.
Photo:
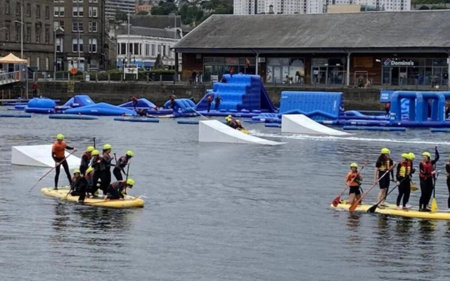
{"label": "dark concrete quay wall behind the blue inflatables", "polygon": [[[120,82],[67,82],[67,81],[39,81],[39,93],[49,98],[60,99],[65,102],[71,96],[86,94],[96,102],[119,105],[129,101],[131,96],[147,98],[162,106],[174,94],[177,98],[191,98],[200,100],[205,96],[211,84],[160,84],[160,83],[120,83]],[[31,89],[31,84],[30,84]],[[403,89],[406,90],[406,89]],[[409,89],[414,91],[415,89]],[[271,100],[279,106],[281,91],[333,91],[343,92],[345,110],[381,110],[380,88],[356,89],[326,86],[271,86],[266,85],[266,91]]]}

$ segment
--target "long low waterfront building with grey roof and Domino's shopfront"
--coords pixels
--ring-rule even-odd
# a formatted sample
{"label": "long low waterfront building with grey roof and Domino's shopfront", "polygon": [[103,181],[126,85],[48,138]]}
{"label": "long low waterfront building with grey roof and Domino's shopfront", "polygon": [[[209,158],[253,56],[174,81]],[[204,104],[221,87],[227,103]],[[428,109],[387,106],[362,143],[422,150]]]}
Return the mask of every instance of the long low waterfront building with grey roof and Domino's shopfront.
{"label": "long low waterfront building with grey roof and Domino's shopfront", "polygon": [[266,83],[444,84],[450,11],[212,15],[179,40],[181,77],[257,73]]}

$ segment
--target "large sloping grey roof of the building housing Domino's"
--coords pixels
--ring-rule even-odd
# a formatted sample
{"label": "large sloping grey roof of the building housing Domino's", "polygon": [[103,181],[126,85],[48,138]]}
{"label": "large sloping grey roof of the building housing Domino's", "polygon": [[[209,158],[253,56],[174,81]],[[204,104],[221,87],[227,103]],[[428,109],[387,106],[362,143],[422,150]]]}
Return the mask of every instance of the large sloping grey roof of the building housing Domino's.
{"label": "large sloping grey roof of the building housing Domino's", "polygon": [[[450,48],[450,10],[212,15],[174,44],[217,49]],[[439,35],[437,35],[439,34]]]}

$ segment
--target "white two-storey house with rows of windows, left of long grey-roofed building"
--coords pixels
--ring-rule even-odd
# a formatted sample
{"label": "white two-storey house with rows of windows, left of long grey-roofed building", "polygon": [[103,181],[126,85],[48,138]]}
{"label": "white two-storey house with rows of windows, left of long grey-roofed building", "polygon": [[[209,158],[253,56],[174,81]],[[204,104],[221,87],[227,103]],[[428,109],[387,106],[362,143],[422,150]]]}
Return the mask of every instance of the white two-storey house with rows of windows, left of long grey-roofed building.
{"label": "white two-storey house with rows of windows, left of long grey-roofed building", "polygon": [[[181,30],[160,29],[148,27],[130,27],[128,34],[117,35],[117,61],[118,68],[123,63],[138,65],[139,68],[150,68],[155,65],[158,55],[161,55],[162,63],[168,69],[175,66],[175,53],[170,49],[179,39]],[[130,60],[128,62],[128,59]],[[179,54],[181,65],[181,54]]]}

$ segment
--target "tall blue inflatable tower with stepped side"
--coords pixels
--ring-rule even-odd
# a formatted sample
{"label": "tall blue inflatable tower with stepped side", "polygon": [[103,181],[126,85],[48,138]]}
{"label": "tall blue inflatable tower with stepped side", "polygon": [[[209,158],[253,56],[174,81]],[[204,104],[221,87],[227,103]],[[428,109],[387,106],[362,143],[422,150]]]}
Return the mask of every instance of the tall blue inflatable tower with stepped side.
{"label": "tall blue inflatable tower with stepped side", "polygon": [[[197,104],[195,110],[207,110],[207,96],[212,96],[212,110],[214,98],[220,96],[219,110],[224,112],[240,112],[241,110],[261,110],[262,112],[277,112],[269,95],[264,89],[259,75],[225,74],[226,83],[214,83],[213,90],[208,92]],[[232,110],[232,111],[231,111]]]}

